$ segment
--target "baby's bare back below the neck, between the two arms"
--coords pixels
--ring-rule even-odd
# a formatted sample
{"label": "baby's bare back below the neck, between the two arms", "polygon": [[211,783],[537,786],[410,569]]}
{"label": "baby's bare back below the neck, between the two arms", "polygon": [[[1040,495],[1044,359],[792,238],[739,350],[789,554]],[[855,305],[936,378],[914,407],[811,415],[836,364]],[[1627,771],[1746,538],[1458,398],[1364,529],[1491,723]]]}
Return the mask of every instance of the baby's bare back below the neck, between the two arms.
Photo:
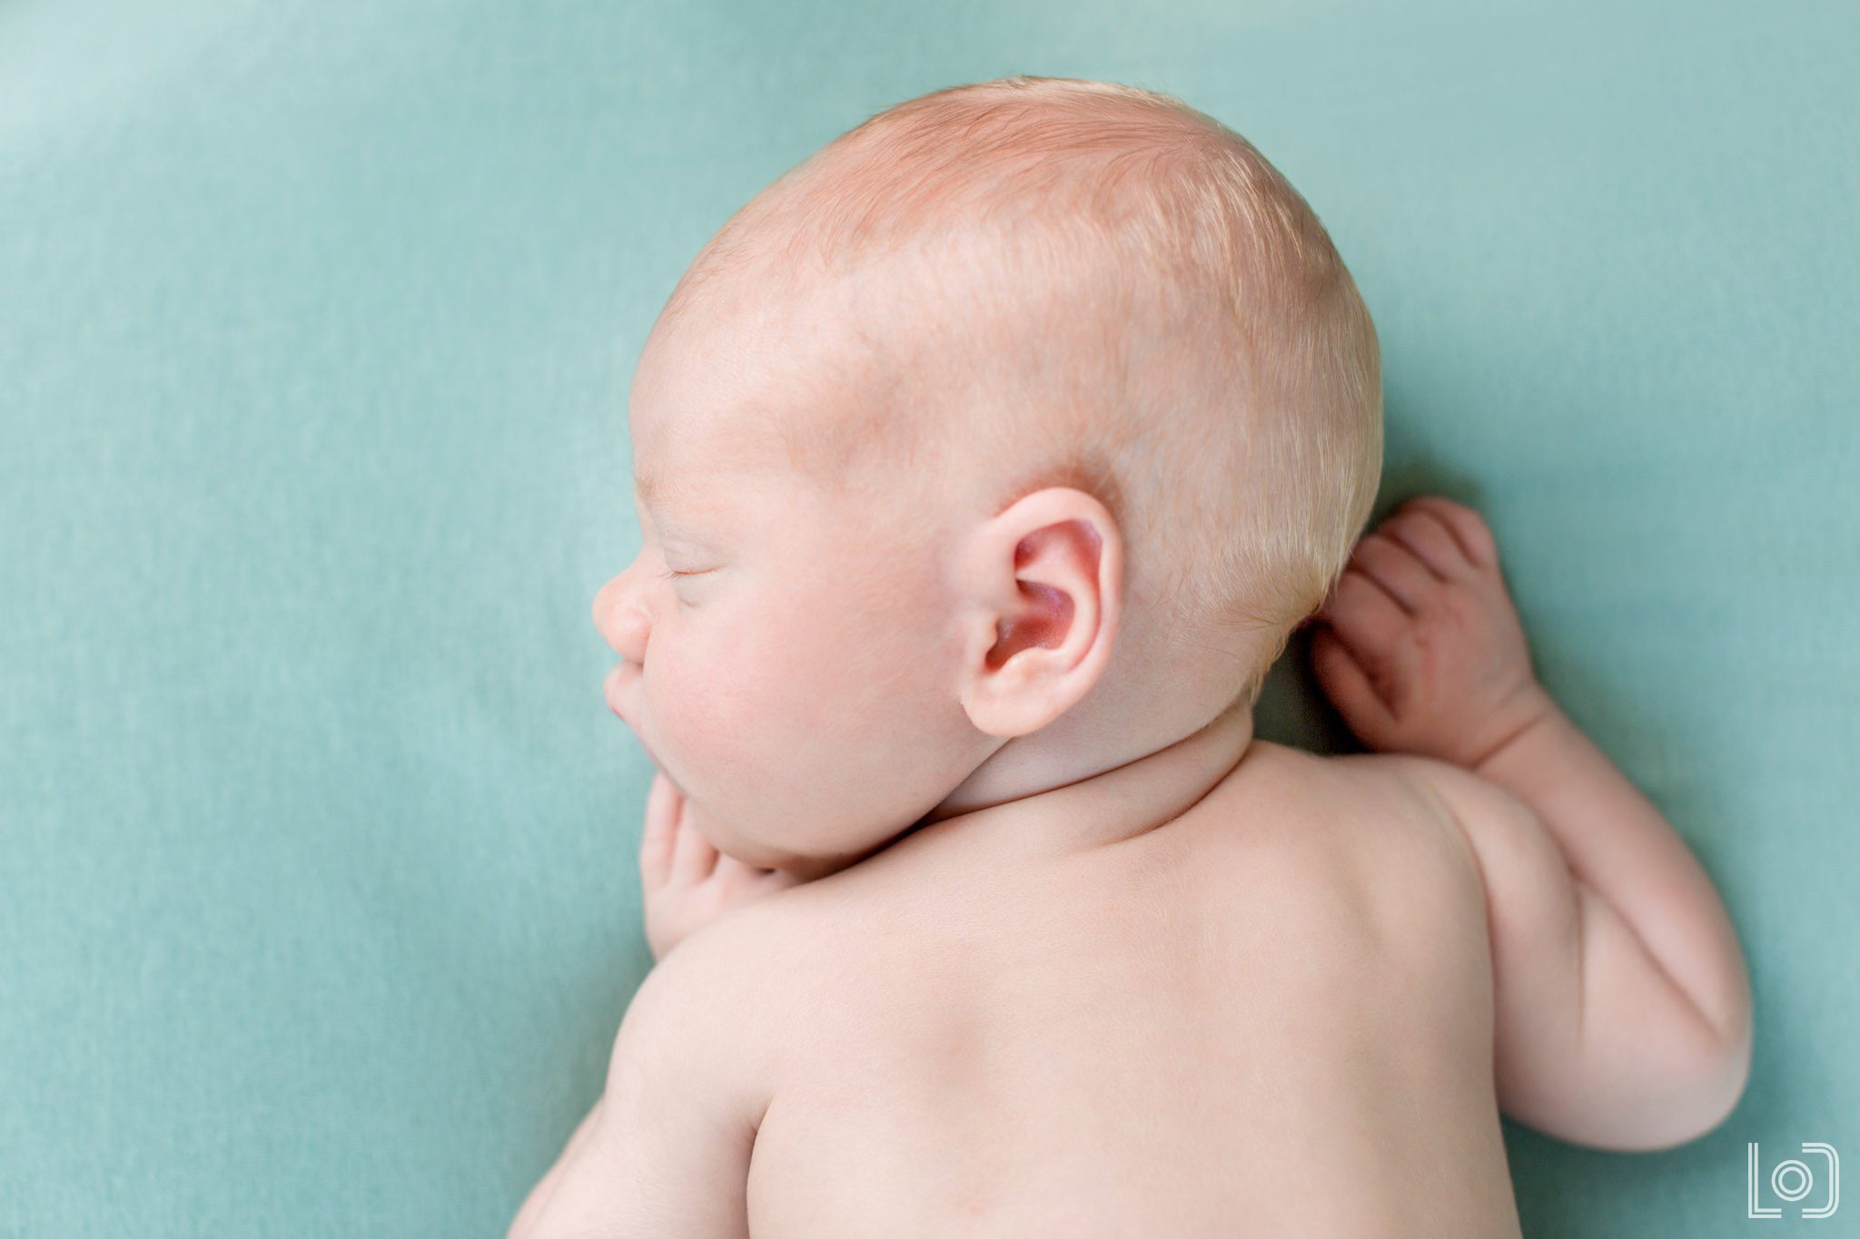
{"label": "baby's bare back below the neck, between the two arms", "polygon": [[1373,758],[1256,743],[1084,851],[993,825],[783,895],[755,1239],[1518,1233],[1477,864]]}

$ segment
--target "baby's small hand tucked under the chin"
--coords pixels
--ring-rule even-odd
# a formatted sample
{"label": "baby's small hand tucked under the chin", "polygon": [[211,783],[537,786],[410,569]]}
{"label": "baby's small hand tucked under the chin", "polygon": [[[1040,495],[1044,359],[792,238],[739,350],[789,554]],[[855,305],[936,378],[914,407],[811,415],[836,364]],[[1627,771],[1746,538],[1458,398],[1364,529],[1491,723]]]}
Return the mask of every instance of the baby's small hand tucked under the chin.
{"label": "baby's small hand tucked under the chin", "polygon": [[645,944],[655,960],[731,908],[798,884],[781,869],[757,869],[716,851],[699,832],[698,810],[684,793],[664,771],[653,776],[640,841],[640,890]]}

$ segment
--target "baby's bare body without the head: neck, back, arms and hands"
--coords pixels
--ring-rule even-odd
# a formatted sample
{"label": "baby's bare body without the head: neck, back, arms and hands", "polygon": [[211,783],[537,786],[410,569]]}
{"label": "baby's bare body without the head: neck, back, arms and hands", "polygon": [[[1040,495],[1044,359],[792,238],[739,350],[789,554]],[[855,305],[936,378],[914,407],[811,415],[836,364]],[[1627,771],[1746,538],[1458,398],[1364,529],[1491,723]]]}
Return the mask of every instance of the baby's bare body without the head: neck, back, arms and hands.
{"label": "baby's bare body without the head: neck, back, arms and hands", "polygon": [[664,959],[510,1235],[1492,1239],[1501,1111],[1616,1150],[1717,1126],[1737,940],[1538,685],[1484,522],[1404,503],[1317,620],[1380,752],[1233,708],[811,882],[718,854],[660,773]]}

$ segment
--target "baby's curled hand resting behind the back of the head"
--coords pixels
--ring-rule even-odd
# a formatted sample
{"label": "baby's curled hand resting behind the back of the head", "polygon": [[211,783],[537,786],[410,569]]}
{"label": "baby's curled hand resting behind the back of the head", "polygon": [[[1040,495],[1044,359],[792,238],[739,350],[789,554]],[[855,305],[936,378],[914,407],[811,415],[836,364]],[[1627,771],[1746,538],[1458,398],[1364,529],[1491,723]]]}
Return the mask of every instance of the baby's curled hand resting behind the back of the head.
{"label": "baby's curled hand resting behind the back of the head", "polygon": [[1315,619],[1317,682],[1371,749],[1477,769],[1553,708],[1469,507],[1402,503],[1356,544]]}

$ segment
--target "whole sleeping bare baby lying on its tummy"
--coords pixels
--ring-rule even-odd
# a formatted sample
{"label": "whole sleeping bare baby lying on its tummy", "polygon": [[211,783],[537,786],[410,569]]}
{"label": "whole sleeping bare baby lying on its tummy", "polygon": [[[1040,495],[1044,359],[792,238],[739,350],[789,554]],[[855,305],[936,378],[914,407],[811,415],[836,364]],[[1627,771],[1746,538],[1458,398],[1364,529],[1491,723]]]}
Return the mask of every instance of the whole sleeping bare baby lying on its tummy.
{"label": "whole sleeping bare baby lying on its tummy", "polygon": [[[1375,327],[1216,121],[872,117],[699,253],[631,435],[593,619],[658,962],[513,1237],[1492,1239],[1501,1113],[1654,1150],[1735,1105],[1711,880],[1477,513],[1358,541]],[[1375,752],[1254,737],[1306,622]]]}

